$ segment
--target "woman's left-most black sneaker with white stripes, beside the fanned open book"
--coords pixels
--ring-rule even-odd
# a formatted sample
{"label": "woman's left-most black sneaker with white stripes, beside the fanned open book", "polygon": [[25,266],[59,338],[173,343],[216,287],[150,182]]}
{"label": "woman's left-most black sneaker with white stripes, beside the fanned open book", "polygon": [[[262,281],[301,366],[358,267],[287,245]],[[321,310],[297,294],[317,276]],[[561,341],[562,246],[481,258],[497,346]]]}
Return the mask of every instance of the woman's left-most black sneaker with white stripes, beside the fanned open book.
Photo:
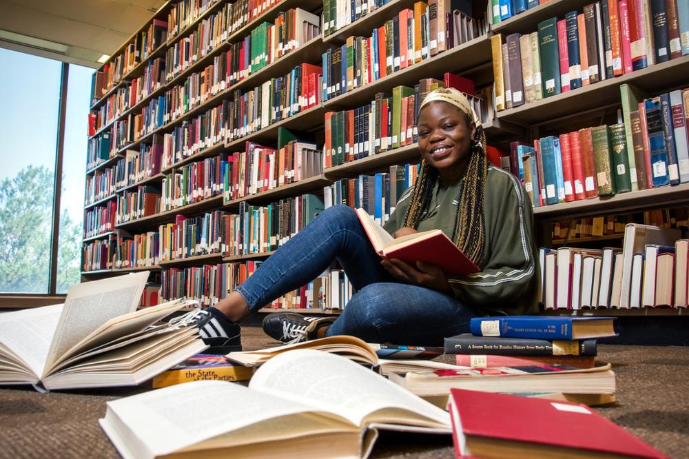
{"label": "woman's left-most black sneaker with white stripes, beside the fanned open book", "polygon": [[214,307],[194,309],[173,320],[172,325],[198,328],[198,335],[210,346],[205,354],[220,355],[242,350],[242,327]]}

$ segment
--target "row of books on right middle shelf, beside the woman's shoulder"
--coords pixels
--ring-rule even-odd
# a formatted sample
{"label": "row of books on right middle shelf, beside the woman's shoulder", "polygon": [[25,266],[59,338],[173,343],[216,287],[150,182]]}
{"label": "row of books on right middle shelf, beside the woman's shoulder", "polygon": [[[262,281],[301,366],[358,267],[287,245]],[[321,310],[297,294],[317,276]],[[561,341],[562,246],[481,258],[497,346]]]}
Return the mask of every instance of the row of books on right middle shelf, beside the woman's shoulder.
{"label": "row of books on right middle shelf, beside the woman's shoulder", "polygon": [[[689,96],[689,90],[684,93]],[[635,116],[638,132],[618,123],[544,137],[533,147],[515,142],[510,170],[535,207],[685,183],[689,136],[681,96],[677,90],[642,101],[644,119]]]}

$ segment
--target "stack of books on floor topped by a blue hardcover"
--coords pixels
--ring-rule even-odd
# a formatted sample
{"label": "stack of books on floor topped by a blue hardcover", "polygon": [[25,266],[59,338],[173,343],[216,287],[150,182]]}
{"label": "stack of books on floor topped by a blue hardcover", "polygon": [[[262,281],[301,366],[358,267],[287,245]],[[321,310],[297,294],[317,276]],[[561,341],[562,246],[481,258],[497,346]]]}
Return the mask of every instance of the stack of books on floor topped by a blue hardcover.
{"label": "stack of books on floor topped by a blue hardcover", "polygon": [[595,363],[596,338],[615,336],[614,318],[473,318],[471,334],[445,338],[463,367],[413,371],[391,380],[435,403],[450,389],[521,394],[586,405],[615,401],[615,374]]}

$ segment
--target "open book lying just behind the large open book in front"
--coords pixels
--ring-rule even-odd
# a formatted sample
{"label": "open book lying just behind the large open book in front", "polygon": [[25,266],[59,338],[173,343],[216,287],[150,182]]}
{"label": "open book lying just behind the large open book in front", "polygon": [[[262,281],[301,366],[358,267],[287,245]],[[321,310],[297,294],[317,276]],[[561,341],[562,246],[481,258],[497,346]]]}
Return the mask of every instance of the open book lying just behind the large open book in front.
{"label": "open book lying just behind the large open book in front", "polygon": [[433,360],[380,358],[376,352],[380,351],[381,347],[389,348],[390,345],[368,344],[355,336],[338,335],[319,338],[317,340],[303,341],[302,343],[268,347],[267,349],[258,349],[257,351],[230,352],[226,357],[242,365],[258,367],[271,358],[287,351],[294,349],[314,349],[316,351],[338,354],[356,363],[378,367],[382,374],[391,372],[404,373],[405,371],[414,370],[457,368],[456,365],[434,362]]}

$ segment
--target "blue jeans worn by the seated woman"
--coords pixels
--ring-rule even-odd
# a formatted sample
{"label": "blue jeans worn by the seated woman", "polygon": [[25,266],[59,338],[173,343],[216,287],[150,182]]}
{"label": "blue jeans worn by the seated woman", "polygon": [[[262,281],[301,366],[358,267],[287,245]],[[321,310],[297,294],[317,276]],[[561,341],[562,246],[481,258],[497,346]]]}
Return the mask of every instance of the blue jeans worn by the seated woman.
{"label": "blue jeans worn by the seated woman", "polygon": [[353,335],[369,343],[442,345],[469,332],[477,314],[452,296],[408,285],[380,265],[380,256],[350,207],[329,207],[276,250],[236,290],[255,313],[309,283],[337,259],[357,290],[327,336]]}

